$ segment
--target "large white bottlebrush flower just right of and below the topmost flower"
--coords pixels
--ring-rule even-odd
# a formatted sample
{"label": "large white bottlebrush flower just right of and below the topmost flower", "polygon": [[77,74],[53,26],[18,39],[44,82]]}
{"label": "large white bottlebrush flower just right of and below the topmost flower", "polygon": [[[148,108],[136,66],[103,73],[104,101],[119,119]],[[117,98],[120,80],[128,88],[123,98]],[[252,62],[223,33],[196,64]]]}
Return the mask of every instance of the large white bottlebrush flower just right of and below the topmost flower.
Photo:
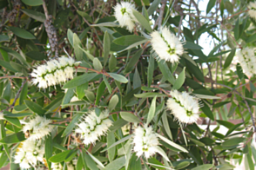
{"label": "large white bottlebrush flower just right of and below the topmost flower", "polygon": [[167,27],[161,28],[160,31],[153,31],[152,34],[152,49],[154,56],[166,62],[179,62],[179,56],[184,52],[183,45]]}

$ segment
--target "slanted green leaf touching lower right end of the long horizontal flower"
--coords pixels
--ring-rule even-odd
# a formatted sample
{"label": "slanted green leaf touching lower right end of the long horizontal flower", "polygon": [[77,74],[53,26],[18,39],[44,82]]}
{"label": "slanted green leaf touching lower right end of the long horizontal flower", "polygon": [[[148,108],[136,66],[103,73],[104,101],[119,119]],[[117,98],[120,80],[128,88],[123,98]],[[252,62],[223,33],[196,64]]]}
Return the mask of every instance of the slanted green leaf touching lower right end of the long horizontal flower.
{"label": "slanted green leaf touching lower right end of the long horizontal flower", "polygon": [[71,81],[66,82],[63,86],[63,88],[75,88],[77,86],[80,86],[84,84],[85,82],[90,82],[91,79],[93,79],[97,73],[87,73],[84,75],[79,75],[75,78],[73,78]]}

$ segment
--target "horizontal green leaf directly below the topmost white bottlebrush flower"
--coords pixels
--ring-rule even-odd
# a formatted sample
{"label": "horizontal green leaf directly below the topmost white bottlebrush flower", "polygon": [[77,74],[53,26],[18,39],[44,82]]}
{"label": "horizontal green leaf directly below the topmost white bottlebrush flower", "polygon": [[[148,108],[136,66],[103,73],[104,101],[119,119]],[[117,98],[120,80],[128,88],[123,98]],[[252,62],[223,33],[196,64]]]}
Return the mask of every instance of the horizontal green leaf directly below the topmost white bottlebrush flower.
{"label": "horizontal green leaf directly below the topmost white bottlebrush flower", "polygon": [[143,36],[121,36],[115,40],[113,40],[114,43],[118,45],[128,46],[136,42],[141,42],[145,40],[145,37]]}

